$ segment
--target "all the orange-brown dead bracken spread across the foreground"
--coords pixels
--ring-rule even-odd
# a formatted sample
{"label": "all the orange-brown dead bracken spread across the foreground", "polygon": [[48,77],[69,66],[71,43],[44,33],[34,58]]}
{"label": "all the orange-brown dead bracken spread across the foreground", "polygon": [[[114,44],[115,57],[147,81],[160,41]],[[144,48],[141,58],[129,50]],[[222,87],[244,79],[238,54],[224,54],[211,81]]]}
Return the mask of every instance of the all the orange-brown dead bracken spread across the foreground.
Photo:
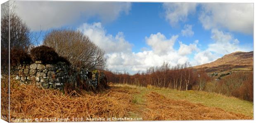
{"label": "all the orange-brown dead bracken spread across the foreground", "polygon": [[[137,97],[139,102],[134,102],[136,95],[141,95],[144,101],[139,101]],[[243,114],[226,112],[220,108],[206,107],[186,100],[170,99],[154,91],[142,91],[137,87],[128,86],[111,86],[111,89],[98,93],[82,90],[67,94],[53,89],[38,89],[35,85],[19,85],[12,81],[10,105],[10,118],[14,119],[69,118],[69,121],[72,121],[72,118],[85,120],[85,118],[99,117],[142,117],[143,121],[252,119]]]}

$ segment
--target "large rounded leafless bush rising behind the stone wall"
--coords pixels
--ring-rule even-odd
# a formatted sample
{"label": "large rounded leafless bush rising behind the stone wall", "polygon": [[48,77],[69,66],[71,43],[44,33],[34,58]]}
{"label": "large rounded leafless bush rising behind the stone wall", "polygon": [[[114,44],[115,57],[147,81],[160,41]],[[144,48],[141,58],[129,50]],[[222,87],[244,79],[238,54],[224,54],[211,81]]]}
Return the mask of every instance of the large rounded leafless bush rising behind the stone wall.
{"label": "large rounded leafless bush rising behind the stone wall", "polygon": [[106,65],[104,50],[96,46],[88,36],[74,30],[52,30],[46,34],[43,45],[52,47],[76,67],[103,69]]}

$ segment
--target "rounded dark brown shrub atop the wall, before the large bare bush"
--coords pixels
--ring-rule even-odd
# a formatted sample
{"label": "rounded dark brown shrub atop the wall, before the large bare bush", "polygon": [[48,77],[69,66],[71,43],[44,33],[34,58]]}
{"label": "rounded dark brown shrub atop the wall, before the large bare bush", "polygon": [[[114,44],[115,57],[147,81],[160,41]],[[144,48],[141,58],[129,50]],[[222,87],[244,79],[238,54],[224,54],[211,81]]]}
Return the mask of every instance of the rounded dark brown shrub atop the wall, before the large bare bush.
{"label": "rounded dark brown shrub atop the wall, before the large bare bush", "polygon": [[43,63],[56,63],[58,54],[53,48],[47,46],[38,46],[30,51],[33,61],[43,61]]}

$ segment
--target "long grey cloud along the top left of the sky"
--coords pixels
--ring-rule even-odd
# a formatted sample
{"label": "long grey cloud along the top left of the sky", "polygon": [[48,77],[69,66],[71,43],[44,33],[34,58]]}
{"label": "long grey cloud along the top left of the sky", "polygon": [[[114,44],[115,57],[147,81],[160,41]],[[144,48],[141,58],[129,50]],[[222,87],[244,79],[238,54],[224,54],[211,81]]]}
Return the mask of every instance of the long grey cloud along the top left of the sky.
{"label": "long grey cloud along the top left of the sky", "polygon": [[[120,13],[128,14],[128,2],[15,1],[16,13],[32,30],[47,30],[75,23],[79,19],[100,18],[114,21]],[[40,28],[42,27],[42,28]]]}

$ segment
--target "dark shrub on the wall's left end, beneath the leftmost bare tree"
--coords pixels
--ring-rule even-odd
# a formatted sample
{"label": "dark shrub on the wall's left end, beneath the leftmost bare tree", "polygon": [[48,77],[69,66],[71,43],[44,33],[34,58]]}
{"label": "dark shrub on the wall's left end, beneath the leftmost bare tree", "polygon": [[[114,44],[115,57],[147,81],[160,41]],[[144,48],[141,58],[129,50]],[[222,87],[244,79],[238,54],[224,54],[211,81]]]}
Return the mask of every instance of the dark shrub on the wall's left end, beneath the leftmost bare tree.
{"label": "dark shrub on the wall's left end, beneath the leftmost bare tree", "polygon": [[29,64],[32,62],[31,57],[22,48],[12,48],[10,52],[10,64]]}

